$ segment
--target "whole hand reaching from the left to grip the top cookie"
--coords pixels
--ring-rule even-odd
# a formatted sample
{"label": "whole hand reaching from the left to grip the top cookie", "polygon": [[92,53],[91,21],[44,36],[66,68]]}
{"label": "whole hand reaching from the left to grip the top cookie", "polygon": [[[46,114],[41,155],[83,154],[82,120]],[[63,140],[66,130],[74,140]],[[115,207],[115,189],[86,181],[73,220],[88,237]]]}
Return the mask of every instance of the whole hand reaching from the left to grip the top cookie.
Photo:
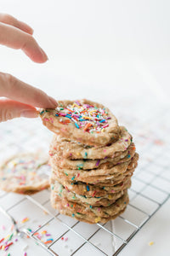
{"label": "whole hand reaching from the left to grip the top cookie", "polygon": [[[33,30],[26,23],[10,15],[0,14],[0,44],[22,49],[34,62],[43,63],[48,56],[32,37]],[[35,118],[38,108],[56,108],[57,102],[39,90],[8,73],[0,73],[0,122],[18,117]]]}

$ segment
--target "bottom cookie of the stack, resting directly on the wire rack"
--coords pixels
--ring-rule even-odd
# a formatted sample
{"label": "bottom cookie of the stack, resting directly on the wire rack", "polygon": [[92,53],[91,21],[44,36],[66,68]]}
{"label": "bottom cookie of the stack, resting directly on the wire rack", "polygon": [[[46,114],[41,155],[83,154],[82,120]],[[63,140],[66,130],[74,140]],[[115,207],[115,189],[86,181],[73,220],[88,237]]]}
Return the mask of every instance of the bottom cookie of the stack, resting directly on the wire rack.
{"label": "bottom cookie of the stack, resting directly on the wire rack", "polygon": [[66,215],[77,218],[78,220],[81,219],[90,224],[98,222],[105,223],[110,219],[116,218],[125,210],[128,201],[128,195],[125,193],[109,207],[88,207],[88,205],[85,207],[77,203],[72,205],[72,202],[61,199],[59,196],[56,196],[53,191],[51,193],[52,206],[58,209],[60,213],[65,213]]}

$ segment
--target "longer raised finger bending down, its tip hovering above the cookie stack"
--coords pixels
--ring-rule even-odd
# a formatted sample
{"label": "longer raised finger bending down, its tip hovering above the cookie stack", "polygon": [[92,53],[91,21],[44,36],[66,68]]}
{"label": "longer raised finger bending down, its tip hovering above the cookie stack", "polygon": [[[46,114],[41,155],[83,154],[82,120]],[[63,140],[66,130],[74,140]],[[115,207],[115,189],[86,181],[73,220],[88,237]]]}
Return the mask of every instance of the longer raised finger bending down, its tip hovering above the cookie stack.
{"label": "longer raised finger bending down, its tip hovering above the cookie stack", "polygon": [[37,44],[37,41],[28,33],[14,26],[0,23],[0,44],[13,49],[22,49],[32,61],[43,63],[48,56]]}

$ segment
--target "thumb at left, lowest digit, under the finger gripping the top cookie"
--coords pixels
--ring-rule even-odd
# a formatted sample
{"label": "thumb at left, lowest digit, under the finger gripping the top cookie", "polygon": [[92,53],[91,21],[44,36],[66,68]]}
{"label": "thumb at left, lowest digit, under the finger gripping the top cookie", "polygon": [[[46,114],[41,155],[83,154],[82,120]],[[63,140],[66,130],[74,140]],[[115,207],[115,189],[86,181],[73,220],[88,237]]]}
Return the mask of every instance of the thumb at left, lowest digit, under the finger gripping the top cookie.
{"label": "thumb at left, lowest digit, under the finger gripping the top cookie", "polygon": [[37,118],[37,109],[31,105],[8,99],[0,100],[0,122],[19,117]]}

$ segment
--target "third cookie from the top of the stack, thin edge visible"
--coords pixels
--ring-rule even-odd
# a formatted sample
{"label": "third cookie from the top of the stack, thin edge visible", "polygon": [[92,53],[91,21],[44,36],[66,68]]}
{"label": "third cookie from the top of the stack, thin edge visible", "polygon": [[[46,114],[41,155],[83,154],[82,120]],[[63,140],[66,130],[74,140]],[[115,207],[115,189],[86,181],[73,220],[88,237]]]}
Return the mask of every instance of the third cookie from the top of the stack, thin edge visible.
{"label": "third cookie from the top of the stack, thin edge visible", "polygon": [[134,143],[131,143],[130,146],[114,158],[107,158],[101,160],[70,160],[66,158],[59,158],[57,154],[50,154],[50,162],[58,166],[61,169],[77,169],[77,170],[89,170],[89,169],[98,169],[98,168],[111,168],[117,164],[121,164],[127,160],[130,160],[135,154]]}

